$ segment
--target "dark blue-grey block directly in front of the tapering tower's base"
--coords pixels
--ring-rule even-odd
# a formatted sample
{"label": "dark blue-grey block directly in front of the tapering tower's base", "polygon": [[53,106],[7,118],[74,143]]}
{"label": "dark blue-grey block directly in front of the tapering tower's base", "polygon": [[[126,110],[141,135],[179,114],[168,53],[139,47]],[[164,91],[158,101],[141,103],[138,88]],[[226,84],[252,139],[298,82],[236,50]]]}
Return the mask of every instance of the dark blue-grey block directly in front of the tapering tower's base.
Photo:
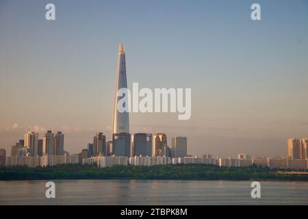
{"label": "dark blue-grey block directly in front of the tapering tower's base", "polygon": [[131,134],[130,133],[114,133],[112,134],[113,153],[116,156],[131,156]]}

